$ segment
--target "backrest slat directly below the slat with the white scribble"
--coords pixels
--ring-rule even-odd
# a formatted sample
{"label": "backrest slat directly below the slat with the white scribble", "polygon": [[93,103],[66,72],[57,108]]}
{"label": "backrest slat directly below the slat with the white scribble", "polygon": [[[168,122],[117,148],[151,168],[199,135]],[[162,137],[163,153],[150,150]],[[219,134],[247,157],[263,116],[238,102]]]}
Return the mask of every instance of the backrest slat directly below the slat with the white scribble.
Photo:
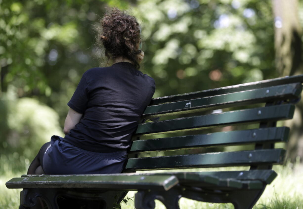
{"label": "backrest slat directly below the slat with the white scribble", "polygon": [[294,110],[294,105],[284,104],[246,110],[228,111],[203,116],[163,120],[151,123],[142,123],[138,125],[134,136],[148,136],[160,133],[172,133],[185,130],[210,128],[214,126],[228,126],[238,123],[285,120],[292,118]]}

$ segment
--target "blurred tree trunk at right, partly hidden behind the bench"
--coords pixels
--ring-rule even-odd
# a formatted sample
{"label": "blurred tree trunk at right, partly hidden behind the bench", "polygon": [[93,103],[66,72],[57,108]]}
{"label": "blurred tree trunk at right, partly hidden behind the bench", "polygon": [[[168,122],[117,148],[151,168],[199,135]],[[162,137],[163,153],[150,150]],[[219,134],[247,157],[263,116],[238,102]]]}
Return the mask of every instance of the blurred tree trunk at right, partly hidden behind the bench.
{"label": "blurred tree trunk at right, partly hidden behind the bench", "polygon": [[[302,74],[301,27],[298,0],[272,0],[275,27],[276,69],[281,76]],[[291,128],[287,157],[292,162],[303,159],[303,101],[296,105],[294,120],[286,121]]]}

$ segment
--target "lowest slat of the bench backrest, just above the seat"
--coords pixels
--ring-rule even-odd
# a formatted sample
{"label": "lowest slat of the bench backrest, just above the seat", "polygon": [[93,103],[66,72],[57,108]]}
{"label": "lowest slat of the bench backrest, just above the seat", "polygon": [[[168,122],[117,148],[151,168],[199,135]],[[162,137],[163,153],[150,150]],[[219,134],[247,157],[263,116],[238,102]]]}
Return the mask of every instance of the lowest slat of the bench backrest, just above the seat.
{"label": "lowest slat of the bench backrest, just above the seat", "polygon": [[283,163],[285,150],[248,150],[164,157],[130,158],[125,170],[162,170],[176,168],[207,168]]}

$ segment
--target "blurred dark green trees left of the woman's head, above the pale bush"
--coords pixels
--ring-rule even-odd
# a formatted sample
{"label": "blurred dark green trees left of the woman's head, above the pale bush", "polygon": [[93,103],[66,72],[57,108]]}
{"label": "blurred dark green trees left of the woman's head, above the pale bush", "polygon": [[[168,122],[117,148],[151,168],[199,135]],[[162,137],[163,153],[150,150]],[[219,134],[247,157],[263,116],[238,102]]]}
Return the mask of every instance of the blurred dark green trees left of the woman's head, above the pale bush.
{"label": "blurred dark green trees left of the woman's head, above the pale bush", "polygon": [[94,24],[118,0],[0,0],[0,82],[15,86],[19,97],[39,99],[54,108],[63,125],[83,72],[98,65]]}

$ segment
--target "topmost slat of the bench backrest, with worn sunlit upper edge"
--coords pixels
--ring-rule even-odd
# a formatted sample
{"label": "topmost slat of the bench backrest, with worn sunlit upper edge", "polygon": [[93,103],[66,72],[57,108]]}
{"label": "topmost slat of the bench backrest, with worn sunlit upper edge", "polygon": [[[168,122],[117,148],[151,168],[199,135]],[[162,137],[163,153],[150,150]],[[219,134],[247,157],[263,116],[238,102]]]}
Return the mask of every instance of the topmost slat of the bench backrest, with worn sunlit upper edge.
{"label": "topmost slat of the bench backrest, with worn sunlit upper edge", "polygon": [[281,77],[281,78],[275,78],[275,79],[256,81],[256,82],[251,82],[251,83],[243,83],[243,84],[238,84],[238,85],[234,85],[234,86],[225,86],[225,87],[221,87],[221,88],[217,88],[217,89],[208,89],[208,90],[185,93],[185,94],[163,96],[163,97],[158,97],[158,98],[152,99],[150,105],[157,105],[157,104],[162,104],[162,103],[176,102],[176,101],[188,100],[188,99],[196,99],[196,98],[201,98],[201,97],[206,97],[206,96],[215,96],[215,95],[219,95],[219,94],[246,91],[246,90],[250,90],[250,89],[259,89],[259,88],[283,85],[283,84],[288,84],[288,83],[303,83],[303,75],[287,76],[287,77]]}

